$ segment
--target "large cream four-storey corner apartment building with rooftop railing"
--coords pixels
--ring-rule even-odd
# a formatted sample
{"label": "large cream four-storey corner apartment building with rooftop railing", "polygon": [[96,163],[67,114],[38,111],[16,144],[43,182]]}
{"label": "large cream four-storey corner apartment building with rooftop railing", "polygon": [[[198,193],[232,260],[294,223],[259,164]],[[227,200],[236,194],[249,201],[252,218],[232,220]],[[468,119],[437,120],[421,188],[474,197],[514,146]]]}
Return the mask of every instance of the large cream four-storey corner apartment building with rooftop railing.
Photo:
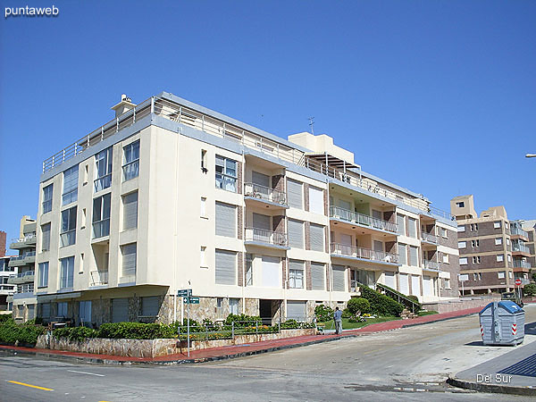
{"label": "large cream four-storey corner apartment building with rooftop railing", "polygon": [[333,139],[276,137],[162,93],[43,163],[38,314],[75,322],[312,317],[359,283],[457,297],[456,222]]}

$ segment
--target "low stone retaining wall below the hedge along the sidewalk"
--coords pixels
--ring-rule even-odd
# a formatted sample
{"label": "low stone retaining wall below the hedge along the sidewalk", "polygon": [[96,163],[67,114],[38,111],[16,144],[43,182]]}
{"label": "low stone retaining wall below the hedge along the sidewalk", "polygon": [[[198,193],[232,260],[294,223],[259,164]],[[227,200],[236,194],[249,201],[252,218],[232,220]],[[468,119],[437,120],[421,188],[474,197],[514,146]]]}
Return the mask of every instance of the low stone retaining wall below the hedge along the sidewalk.
{"label": "low stone retaining wall below the hedge along the sidewalk", "polygon": [[[304,335],[314,335],[315,330],[281,330],[280,333],[237,335],[234,339],[192,340],[190,350],[218,348],[260,342],[262,340],[283,339]],[[179,339],[105,339],[89,338],[81,341],[54,338],[41,335],[36,348],[66,350],[70,352],[96,355],[158,357],[174,355],[186,351],[187,342]]]}

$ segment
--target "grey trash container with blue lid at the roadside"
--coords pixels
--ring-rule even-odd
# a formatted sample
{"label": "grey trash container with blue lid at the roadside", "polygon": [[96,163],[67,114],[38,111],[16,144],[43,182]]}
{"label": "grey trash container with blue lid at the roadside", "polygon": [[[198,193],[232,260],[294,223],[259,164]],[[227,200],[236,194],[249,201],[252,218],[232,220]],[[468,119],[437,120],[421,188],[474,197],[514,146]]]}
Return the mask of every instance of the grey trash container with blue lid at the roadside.
{"label": "grey trash container with blue lid at the roadside", "polygon": [[484,345],[517,345],[524,339],[524,310],[513,301],[490,303],[479,314]]}

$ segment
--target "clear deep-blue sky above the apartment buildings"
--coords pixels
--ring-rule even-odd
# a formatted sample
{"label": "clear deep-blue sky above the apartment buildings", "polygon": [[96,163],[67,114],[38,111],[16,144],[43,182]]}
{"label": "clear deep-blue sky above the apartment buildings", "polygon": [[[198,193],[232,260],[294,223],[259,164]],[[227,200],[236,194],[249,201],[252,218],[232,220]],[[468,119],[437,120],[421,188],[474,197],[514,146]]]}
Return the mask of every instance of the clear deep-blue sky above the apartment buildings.
{"label": "clear deep-blue sky above the apartment buildings", "polygon": [[[29,3],[0,0],[6,6]],[[39,1],[0,21],[0,230],[36,217],[42,161],[163,90],[449,208],[536,218],[536,2]],[[13,253],[12,253],[13,254]]]}

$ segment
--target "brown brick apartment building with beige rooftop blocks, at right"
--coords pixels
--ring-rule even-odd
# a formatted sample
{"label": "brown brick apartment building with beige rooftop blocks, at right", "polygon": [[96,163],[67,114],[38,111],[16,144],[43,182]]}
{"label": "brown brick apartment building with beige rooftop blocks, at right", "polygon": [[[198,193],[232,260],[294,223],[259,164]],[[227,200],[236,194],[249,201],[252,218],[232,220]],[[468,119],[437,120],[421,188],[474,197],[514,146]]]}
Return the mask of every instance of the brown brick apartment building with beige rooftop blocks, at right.
{"label": "brown brick apartment building with beige rooftop blocks, at right", "polygon": [[450,210],[458,225],[460,272],[467,275],[465,294],[511,291],[517,278],[528,283],[531,254],[522,222],[508,221],[504,206],[478,216],[472,195],[453,198]]}

